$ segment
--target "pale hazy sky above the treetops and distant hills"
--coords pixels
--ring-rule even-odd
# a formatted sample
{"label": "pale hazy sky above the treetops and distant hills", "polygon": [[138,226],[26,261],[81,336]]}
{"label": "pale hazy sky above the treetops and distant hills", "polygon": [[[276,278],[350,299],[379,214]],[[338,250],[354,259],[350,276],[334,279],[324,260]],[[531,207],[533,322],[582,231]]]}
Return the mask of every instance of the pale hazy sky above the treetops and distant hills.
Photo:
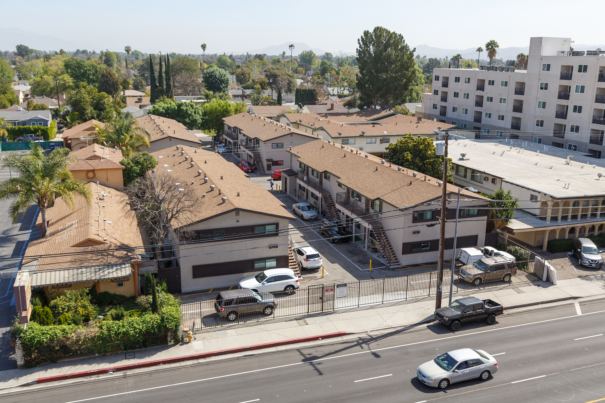
{"label": "pale hazy sky above the treetops and distant hills", "polygon": [[577,14],[580,9],[598,13],[602,5],[588,0],[30,0],[19,6],[26,11],[21,18],[15,10],[3,21],[4,28],[56,37],[57,49],[117,51],[130,45],[154,53],[201,53],[205,42],[206,53],[231,53],[302,42],[336,53],[354,52],[361,33],[376,25],[401,33],[411,46],[465,49],[495,39],[500,47],[525,47],[531,36],[603,44],[598,22]]}

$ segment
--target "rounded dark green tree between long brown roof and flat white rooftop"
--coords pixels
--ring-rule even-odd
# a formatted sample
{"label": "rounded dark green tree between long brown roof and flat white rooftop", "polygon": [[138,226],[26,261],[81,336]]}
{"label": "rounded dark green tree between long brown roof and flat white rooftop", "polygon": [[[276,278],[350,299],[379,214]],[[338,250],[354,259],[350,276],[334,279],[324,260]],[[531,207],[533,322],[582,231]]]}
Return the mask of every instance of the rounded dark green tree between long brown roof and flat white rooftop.
{"label": "rounded dark green tree between long brown roof and flat white rooftop", "polygon": [[[433,178],[443,178],[443,156],[436,154],[431,137],[414,137],[410,133],[399,138],[396,143],[388,144],[387,158],[394,164],[419,171]],[[451,158],[448,158],[448,165]],[[453,177],[448,169],[448,182]]]}

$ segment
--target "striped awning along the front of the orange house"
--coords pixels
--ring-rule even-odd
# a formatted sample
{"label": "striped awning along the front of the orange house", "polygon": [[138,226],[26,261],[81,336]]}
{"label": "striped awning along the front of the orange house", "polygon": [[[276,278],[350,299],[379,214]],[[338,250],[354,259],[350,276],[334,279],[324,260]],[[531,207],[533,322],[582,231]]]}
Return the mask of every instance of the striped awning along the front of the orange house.
{"label": "striped awning along the front of the orange house", "polygon": [[74,283],[94,283],[107,280],[126,280],[132,276],[130,263],[78,267],[59,270],[41,270],[30,274],[32,287],[66,286]]}

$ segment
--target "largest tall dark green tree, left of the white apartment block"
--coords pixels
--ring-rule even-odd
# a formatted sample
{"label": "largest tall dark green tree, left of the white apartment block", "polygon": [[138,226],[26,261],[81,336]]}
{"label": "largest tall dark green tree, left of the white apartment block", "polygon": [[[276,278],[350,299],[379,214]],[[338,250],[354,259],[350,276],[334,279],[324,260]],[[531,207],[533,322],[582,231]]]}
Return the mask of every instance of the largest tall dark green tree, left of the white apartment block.
{"label": "largest tall dark green tree, left of the white apartment block", "polygon": [[381,109],[404,102],[416,78],[414,51],[401,34],[382,27],[364,31],[357,48],[361,97]]}

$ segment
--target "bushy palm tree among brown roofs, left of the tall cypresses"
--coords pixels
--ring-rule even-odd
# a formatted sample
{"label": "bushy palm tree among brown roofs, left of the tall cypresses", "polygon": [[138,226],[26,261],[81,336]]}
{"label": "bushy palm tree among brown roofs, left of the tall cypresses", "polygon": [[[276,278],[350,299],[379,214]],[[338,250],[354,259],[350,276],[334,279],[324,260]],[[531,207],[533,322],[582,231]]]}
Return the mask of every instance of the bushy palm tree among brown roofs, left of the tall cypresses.
{"label": "bushy palm tree among brown roofs, left of the tall cypresses", "polygon": [[113,120],[105,123],[105,129],[97,132],[98,143],[105,143],[108,147],[118,147],[125,157],[134,152],[140,152],[143,146],[149,146],[151,135],[145,127],[139,126],[139,121],[130,112],[118,112]]}

